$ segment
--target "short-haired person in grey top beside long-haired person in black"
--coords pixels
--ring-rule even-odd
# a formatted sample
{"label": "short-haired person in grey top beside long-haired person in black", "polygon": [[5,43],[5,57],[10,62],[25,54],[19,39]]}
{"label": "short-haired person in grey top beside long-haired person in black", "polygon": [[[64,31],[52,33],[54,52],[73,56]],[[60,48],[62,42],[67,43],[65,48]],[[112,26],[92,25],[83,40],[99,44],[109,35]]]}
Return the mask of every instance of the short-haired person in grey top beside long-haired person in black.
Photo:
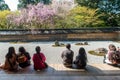
{"label": "short-haired person in grey top beside long-haired person in black", "polygon": [[67,44],[66,48],[67,49],[64,50],[61,55],[63,59],[63,64],[66,67],[72,67],[74,52],[70,49],[71,48],[70,44]]}

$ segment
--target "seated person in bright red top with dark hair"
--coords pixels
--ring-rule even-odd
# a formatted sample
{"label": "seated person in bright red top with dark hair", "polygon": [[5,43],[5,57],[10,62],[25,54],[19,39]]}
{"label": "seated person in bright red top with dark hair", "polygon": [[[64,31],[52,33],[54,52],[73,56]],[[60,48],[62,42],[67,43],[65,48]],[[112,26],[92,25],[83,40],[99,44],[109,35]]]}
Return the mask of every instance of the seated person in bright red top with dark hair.
{"label": "seated person in bright red top with dark hair", "polygon": [[46,65],[45,65],[45,60],[46,60],[46,57],[44,56],[43,53],[41,53],[41,48],[39,46],[37,46],[35,48],[36,50],[36,53],[33,54],[33,63],[34,63],[34,69],[35,70],[42,70],[42,69],[45,69],[46,68]]}

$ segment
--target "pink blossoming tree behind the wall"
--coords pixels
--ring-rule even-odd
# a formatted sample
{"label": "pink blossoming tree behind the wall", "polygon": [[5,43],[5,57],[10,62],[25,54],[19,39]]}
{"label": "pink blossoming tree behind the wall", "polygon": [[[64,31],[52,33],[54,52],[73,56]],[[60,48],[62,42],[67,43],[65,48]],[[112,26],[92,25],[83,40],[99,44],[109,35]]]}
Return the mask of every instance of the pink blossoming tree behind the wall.
{"label": "pink blossoming tree behind the wall", "polygon": [[50,28],[53,23],[54,9],[49,5],[38,3],[37,5],[29,5],[26,9],[22,9],[12,19],[13,24],[17,28],[34,29],[34,28]]}

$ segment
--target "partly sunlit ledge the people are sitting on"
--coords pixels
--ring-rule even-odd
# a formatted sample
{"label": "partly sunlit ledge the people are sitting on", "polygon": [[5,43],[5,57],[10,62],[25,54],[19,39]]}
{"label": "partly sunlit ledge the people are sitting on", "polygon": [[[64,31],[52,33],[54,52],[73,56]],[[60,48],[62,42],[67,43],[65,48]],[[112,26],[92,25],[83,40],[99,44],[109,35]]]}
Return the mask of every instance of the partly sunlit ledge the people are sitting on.
{"label": "partly sunlit ledge the people are sitting on", "polygon": [[120,75],[120,68],[114,67],[108,64],[88,64],[86,69],[71,69],[66,68],[62,64],[49,64],[49,67],[42,71],[35,71],[33,65],[20,69],[18,72],[8,72],[0,70],[0,76],[2,75],[30,75],[30,76],[110,76]]}

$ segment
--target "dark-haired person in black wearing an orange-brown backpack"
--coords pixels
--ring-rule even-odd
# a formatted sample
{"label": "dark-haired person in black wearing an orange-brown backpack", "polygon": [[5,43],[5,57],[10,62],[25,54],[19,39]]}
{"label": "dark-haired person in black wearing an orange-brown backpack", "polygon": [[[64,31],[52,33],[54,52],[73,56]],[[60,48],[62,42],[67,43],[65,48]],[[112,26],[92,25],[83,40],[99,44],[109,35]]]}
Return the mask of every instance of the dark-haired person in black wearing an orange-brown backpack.
{"label": "dark-haired person in black wearing an orange-brown backpack", "polygon": [[24,47],[19,48],[19,53],[17,54],[17,61],[21,68],[25,68],[30,65],[30,54],[26,52]]}

